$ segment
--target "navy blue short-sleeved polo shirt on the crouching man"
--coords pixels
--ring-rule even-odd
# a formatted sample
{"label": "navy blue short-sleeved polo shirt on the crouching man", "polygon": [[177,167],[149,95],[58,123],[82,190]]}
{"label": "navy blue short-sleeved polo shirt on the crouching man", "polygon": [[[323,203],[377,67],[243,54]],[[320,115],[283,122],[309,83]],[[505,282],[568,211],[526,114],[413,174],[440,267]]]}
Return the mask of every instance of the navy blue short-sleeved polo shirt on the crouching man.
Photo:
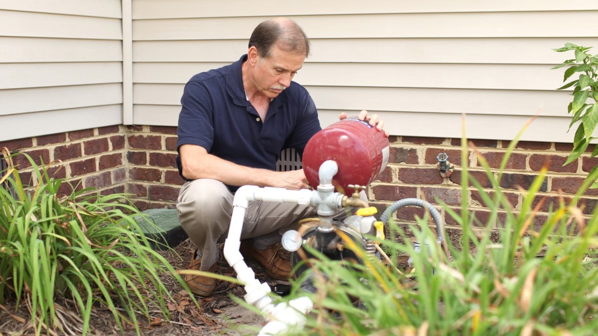
{"label": "navy blue short-sleeved polo shirt on the crouching man", "polygon": [[[302,155],[307,141],[321,130],[318,110],[306,88],[291,82],[270,102],[262,121],[243,89],[246,59],[243,55],[231,65],[191,77],[181,98],[176,145],[199,145],[224,160],[274,170],[280,151],[295,148]],[[180,160],[177,164],[181,173]]]}

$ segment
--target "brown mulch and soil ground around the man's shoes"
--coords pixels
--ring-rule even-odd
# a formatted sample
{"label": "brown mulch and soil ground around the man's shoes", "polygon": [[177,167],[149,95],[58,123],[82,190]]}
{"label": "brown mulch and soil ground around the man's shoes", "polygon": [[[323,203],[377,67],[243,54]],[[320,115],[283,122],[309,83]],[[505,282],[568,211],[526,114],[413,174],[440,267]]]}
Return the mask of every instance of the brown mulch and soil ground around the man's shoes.
{"label": "brown mulch and soil ground around the man's shoes", "polygon": [[[447,239],[451,240],[453,244],[457,243],[459,237],[460,230],[447,230]],[[175,269],[185,269],[193,249],[193,243],[187,239],[174,248],[175,252],[182,256],[182,259],[172,252],[161,252],[161,254]],[[400,260],[397,262],[401,264]],[[221,258],[217,265],[219,273],[235,277],[233,269],[224,258]],[[250,262],[249,266],[255,271],[258,280],[267,282],[270,288],[279,283],[288,285],[288,282],[268,277],[258,264]],[[139,316],[141,335],[257,335],[266,323],[259,314],[233,300],[233,297],[243,300],[245,290],[242,286],[218,280],[212,297],[196,297],[199,302],[199,307],[197,307],[191,302],[187,291],[182,289],[181,285],[172,277],[165,276],[161,280],[175,299],[167,300],[171,314],[170,321],[161,319],[157,310],[152,315],[151,321]],[[67,320],[65,325],[68,325],[74,332],[53,335],[81,334],[81,323],[76,322],[80,320],[80,316],[74,311],[74,306],[67,301],[57,304],[65,307],[65,313],[63,313]],[[90,335],[136,335],[132,325],[126,325],[125,330],[121,331],[115,323],[112,313],[105,308],[95,307],[92,314]],[[42,334],[48,333],[42,331]],[[24,304],[17,307],[14,301],[8,301],[4,306],[0,305],[0,336],[4,335],[35,335],[35,329],[29,322],[29,312]]]}

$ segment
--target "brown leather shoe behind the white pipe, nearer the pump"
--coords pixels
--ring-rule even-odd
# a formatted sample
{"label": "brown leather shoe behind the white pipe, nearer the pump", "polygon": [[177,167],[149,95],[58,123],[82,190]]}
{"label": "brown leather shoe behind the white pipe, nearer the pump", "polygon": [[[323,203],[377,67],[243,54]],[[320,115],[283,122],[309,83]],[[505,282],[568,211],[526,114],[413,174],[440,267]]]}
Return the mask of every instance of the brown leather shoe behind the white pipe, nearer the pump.
{"label": "brown leather shoe behind the white pipe, nearer the pump", "polygon": [[242,240],[241,254],[243,258],[257,261],[269,277],[276,280],[288,281],[291,277],[291,264],[280,256],[279,246],[272,245],[265,250],[255,249],[251,243]]}

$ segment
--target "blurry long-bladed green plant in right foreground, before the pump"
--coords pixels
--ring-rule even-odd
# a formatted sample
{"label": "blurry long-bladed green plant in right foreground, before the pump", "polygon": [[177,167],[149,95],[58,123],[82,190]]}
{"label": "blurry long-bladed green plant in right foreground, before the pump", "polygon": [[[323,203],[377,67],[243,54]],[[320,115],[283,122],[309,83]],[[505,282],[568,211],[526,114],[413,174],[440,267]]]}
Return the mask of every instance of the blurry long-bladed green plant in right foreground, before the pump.
{"label": "blurry long-bladed green plant in right foreground, before the pump", "polygon": [[[466,139],[462,143],[462,155],[466,155]],[[422,244],[415,251],[408,239],[412,236],[406,232],[419,242],[435,241],[427,218],[417,218],[418,224],[409,225],[409,230],[389,223],[389,236],[398,235],[405,243],[382,242],[391,251],[391,260],[403,253],[412,256],[411,271],[367,258],[365,265],[354,267],[343,267],[325,256],[313,261],[314,272],[327,277],[315,277],[322,279],[316,293],[294,286],[290,297],[283,299],[307,295],[314,302],[306,327],[291,334],[594,334],[598,328],[598,214],[587,219],[577,207],[591,180],[584,182],[568,204],[562,201],[555,206],[541,229],[533,231],[530,226],[542,205],[536,203],[546,170],[524,193],[521,209],[512,211],[499,182],[514,146],[515,141],[498,174],[478,154],[492,190],[483,188],[462,167],[463,194],[472,185],[490,216],[488,222],[480,222],[468,207],[468,197],[462,197],[459,213],[444,206],[462,228],[459,242],[446,242],[448,254],[435,244]],[[590,175],[593,179],[598,173]],[[497,218],[502,229],[498,238],[492,227]],[[355,297],[360,306],[353,303]]]}

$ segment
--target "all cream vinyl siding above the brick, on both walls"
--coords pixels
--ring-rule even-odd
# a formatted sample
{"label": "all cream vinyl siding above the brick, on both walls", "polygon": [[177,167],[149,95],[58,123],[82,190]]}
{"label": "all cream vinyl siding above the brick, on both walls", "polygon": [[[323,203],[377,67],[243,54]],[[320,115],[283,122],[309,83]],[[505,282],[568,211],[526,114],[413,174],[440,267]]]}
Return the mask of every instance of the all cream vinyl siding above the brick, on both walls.
{"label": "all cream vinyl siding above the brick, on both walls", "polygon": [[[573,42],[598,53],[598,2],[133,0],[129,115],[121,8],[0,0],[0,124],[19,123],[0,140],[176,126],[192,75],[236,61],[258,23],[287,16],[312,41],[295,81],[322,126],[368,109],[392,135],[460,138],[465,116],[468,138],[512,139],[535,117],[523,140],[570,142],[570,96],[555,90],[562,69],[550,68],[572,55],[552,49]],[[26,127],[33,123],[43,127]]]}

